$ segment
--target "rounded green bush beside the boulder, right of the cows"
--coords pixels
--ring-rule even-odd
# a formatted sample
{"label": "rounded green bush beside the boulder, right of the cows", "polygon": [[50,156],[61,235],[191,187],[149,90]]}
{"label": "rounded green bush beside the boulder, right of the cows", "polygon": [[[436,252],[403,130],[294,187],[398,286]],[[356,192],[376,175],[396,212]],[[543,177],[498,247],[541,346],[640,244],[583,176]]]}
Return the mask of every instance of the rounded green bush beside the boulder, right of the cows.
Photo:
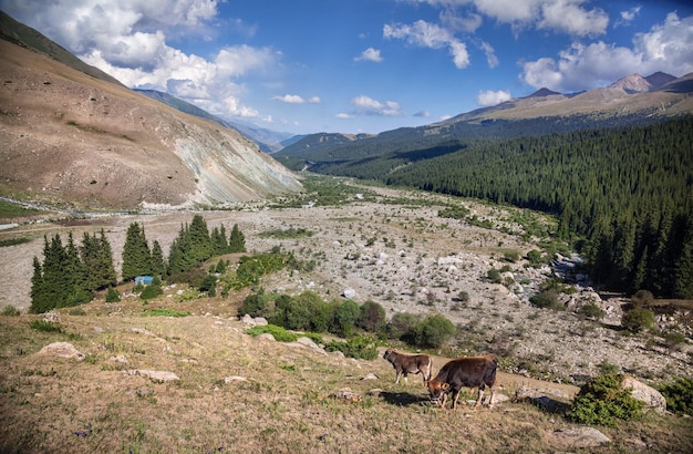
{"label": "rounded green bush beside the boulder, right of the cows", "polygon": [[580,424],[614,426],[642,414],[644,403],[622,388],[620,373],[599,375],[587,382],[575,398],[568,419]]}

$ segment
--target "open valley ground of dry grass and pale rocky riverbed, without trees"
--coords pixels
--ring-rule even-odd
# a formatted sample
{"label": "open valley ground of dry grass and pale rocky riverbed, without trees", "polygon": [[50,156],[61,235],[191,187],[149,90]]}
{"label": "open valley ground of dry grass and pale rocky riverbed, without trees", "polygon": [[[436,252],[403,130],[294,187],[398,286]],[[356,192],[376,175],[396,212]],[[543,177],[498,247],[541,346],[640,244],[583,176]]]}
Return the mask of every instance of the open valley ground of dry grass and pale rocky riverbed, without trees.
{"label": "open valley ground of dry grass and pale rocky riverbed, without trees", "polygon": [[[582,437],[570,436],[572,431],[588,430],[563,416],[576,384],[586,376],[608,365],[655,384],[690,375],[693,355],[690,342],[668,349],[655,334],[625,336],[619,329],[623,300],[602,299],[583,285],[565,295],[565,310],[529,305],[527,297],[550,274],[548,267],[530,267],[524,257],[510,262],[504,256],[511,250],[524,256],[539,247],[546,239],[541,228],[550,228],[550,219],[509,207],[342,179],[325,185],[339,198],[308,194],[299,206],[289,200],[275,207],[246,204],[244,209],[203,215],[209,227],[238,223],[249,250],[279,248],[300,261],[316,261],[312,270],[286,269],[263,277],[260,287],[267,292],[311,290],[325,300],[343,301],[341,293],[351,288],[355,301],[377,301],[389,318],[401,312],[449,318],[459,327],[458,337],[432,352],[434,371],[455,355],[493,352],[501,364],[499,394],[509,400],[501,398],[490,410],[474,411],[468,405],[454,412],[438,410],[428,403],[421,376],[410,376],[406,385],[394,384],[394,371],[382,359],[383,347],[374,360],[353,360],[308,342],[252,338],[236,318],[250,289],[226,298],[195,298],[185,286],[166,286],[165,296],[145,302],[126,283],[120,287],[121,302],[99,298],[58,311],[62,332],[32,329],[30,323],[42,316],[0,316],[0,451],[691,450],[692,420],[671,414],[650,414],[618,427],[598,426],[610,440],[599,446],[579,447]],[[439,215],[452,207],[469,209],[495,227]],[[30,241],[2,249],[13,265],[0,264],[0,278],[11,268],[30,269],[31,256],[40,254],[45,234],[65,235],[69,229],[80,238],[82,231],[103,228],[118,260],[130,223],[143,223],[149,240],[156,238],[167,249],[190,217],[190,213],[176,213],[19,226],[1,237],[22,236]],[[524,235],[532,226],[534,239]],[[504,283],[485,279],[489,269],[504,265],[511,268]],[[25,288],[30,275],[14,276],[14,282],[2,281],[0,287],[19,287],[23,276]],[[458,299],[461,291],[468,293],[468,301]],[[3,302],[21,307],[2,297]],[[579,314],[578,307],[589,302],[603,308],[601,322]],[[145,317],[161,309],[162,316]],[[189,316],[173,317],[180,312]],[[662,321],[663,329],[674,326],[668,320]],[[690,337],[684,321],[679,327]],[[40,353],[59,341],[70,342],[85,358]],[[149,379],[153,371],[177,379]],[[536,403],[516,398],[520,388],[541,398]],[[343,399],[352,395],[349,392],[360,400]]]}

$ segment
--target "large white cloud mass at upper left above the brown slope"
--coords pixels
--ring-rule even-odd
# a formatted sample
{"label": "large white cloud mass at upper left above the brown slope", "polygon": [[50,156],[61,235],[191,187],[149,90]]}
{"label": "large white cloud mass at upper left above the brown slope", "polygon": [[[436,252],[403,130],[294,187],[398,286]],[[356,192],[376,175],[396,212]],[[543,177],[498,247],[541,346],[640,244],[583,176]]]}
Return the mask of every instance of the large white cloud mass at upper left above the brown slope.
{"label": "large white cloud mass at upper left above the brown slope", "polygon": [[[10,14],[30,17],[32,27],[127,86],[167,91],[217,115],[258,116],[242,104],[246,89],[238,78],[272,68],[279,54],[235,45],[199,56],[168,44],[172,37],[208,39],[219,2],[22,0],[7,6]],[[230,27],[242,23],[231,20]]]}

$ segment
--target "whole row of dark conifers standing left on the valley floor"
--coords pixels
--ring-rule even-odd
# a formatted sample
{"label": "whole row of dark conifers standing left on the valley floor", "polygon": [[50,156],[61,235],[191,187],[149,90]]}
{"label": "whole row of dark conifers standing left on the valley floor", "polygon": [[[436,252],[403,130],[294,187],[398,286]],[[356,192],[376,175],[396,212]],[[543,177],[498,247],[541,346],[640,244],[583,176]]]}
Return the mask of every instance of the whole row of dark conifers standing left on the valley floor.
{"label": "whole row of dark conifers standing left on the valley floor", "polygon": [[[176,280],[215,256],[245,251],[246,239],[238,225],[230,234],[224,225],[209,231],[205,219],[195,215],[189,225],[180,227],[165,259],[159,243],[154,240],[149,247],[144,226],[132,223],[123,246],[122,281],[137,276]],[[113,252],[103,229],[99,236],[85,233],[79,246],[72,233],[65,245],[59,234],[50,239],[44,237],[43,261],[33,258],[30,311],[42,313],[79,306],[91,301],[95,292],[116,285]]]}

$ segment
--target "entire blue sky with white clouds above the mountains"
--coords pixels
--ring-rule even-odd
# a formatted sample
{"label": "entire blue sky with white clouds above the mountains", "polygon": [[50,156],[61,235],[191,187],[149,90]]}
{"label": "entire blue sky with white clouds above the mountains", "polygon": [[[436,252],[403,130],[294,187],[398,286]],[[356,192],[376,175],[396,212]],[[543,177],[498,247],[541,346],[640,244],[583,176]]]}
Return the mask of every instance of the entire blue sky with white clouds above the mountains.
{"label": "entire blue sky with white clouds above the mountains", "polygon": [[279,132],[379,133],[693,72],[690,1],[0,0],[131,87]]}

